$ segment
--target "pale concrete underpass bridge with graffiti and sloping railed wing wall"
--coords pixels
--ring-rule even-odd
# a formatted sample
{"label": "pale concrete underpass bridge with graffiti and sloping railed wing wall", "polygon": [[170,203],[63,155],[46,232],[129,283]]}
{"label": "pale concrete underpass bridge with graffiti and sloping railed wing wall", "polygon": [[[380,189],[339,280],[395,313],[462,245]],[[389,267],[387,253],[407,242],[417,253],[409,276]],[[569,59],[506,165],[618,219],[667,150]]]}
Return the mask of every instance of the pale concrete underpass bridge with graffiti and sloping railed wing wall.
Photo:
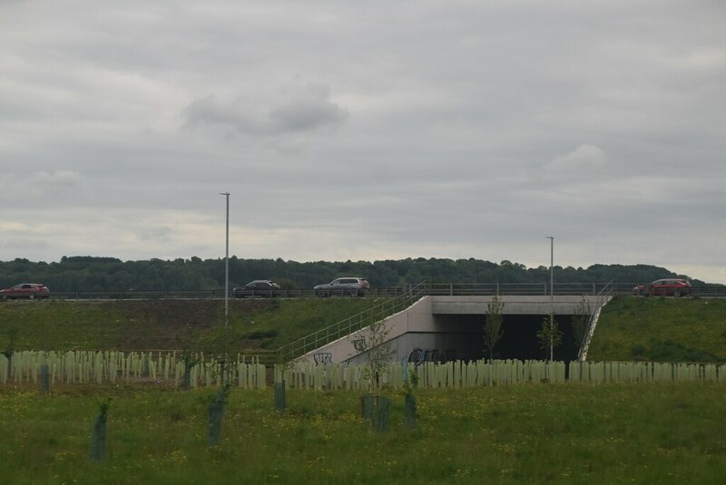
{"label": "pale concrete underpass bridge with graffiti and sloping railed wing wall", "polygon": [[[536,332],[541,328],[544,316],[552,312],[564,332],[562,353],[566,355],[561,355],[564,357],[561,360],[584,359],[600,310],[613,296],[611,290],[603,287],[595,295],[499,296],[500,302],[504,304],[502,315],[505,335],[500,342],[501,353],[497,356],[536,358],[535,354],[540,350]],[[316,364],[362,364],[368,360],[367,353],[371,345],[381,343],[390,349],[391,360],[397,361],[482,358],[485,315],[495,296],[429,293],[428,290],[422,290],[412,295],[408,305],[402,304],[393,315],[375,322],[375,317],[363,316],[358,322],[325,329],[324,335],[310,335],[302,339],[302,347],[299,348],[304,353],[298,360]],[[589,320],[589,336],[582,343],[575,344],[569,322],[578,312],[583,312],[583,306],[586,307]]]}

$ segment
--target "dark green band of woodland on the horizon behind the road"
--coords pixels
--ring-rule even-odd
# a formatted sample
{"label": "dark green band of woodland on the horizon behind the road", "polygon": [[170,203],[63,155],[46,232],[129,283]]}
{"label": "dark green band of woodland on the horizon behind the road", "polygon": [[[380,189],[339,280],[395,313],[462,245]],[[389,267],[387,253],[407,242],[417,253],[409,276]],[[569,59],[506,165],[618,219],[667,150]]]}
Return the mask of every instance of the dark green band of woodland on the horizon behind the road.
{"label": "dark green band of woodland on the horizon behind the road", "polygon": [[[0,286],[43,283],[52,291],[184,291],[224,288],[224,258],[122,261],[115,257],[63,257],[60,262],[33,262],[24,258],[0,261]],[[372,287],[429,283],[547,283],[549,267],[528,268],[518,263],[499,264],[481,259],[407,258],[385,261],[316,261],[230,257],[230,284],[252,279],[273,279],[286,289],[306,289],[338,276],[362,276]],[[594,265],[587,268],[554,267],[561,283],[643,283],[679,276],[648,265]],[[682,276],[682,275],[681,275]],[[688,277],[688,276],[682,276]],[[690,278],[689,278],[690,279]],[[703,285],[692,280],[694,286]]]}

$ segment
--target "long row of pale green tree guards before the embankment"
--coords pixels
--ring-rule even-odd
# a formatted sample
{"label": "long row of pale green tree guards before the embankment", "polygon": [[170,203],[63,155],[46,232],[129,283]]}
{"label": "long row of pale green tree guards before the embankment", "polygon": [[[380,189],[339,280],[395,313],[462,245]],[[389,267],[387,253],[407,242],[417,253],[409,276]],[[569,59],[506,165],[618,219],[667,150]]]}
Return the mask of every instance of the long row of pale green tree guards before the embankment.
{"label": "long row of pale green tree guards before the embankment", "polygon": [[[515,383],[639,383],[703,381],[726,383],[726,364],[646,362],[547,362],[519,360],[378,364],[278,364],[273,383],[293,389],[369,391],[473,387]],[[177,387],[261,389],[268,369],[255,359],[179,352],[16,352],[0,354],[0,383],[159,383]]]}

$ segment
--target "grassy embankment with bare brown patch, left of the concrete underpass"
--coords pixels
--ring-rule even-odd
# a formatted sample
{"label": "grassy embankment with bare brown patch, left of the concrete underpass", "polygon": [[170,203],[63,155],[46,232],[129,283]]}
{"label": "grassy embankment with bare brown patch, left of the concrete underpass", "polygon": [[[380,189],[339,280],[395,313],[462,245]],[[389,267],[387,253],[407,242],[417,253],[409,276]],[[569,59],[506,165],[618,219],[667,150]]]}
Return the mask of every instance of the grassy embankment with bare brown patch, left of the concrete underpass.
{"label": "grassy embankment with bare brown patch, left of the concrete underpass", "polygon": [[368,298],[230,301],[12,301],[0,304],[0,350],[275,350],[356,315]]}

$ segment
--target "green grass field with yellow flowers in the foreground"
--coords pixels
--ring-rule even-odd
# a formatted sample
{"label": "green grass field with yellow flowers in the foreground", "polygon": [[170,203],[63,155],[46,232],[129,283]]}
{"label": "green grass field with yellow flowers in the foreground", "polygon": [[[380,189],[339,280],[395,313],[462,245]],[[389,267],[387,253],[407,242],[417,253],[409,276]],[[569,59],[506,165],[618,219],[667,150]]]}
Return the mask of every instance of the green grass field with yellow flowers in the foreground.
{"label": "green grass field with yellow flowers in the foreground", "polygon": [[[718,384],[522,384],[417,391],[417,428],[390,394],[388,432],[360,394],[232,390],[207,443],[215,390],[56,388],[0,393],[0,483],[721,483]],[[89,449],[110,403],[106,459]]]}

